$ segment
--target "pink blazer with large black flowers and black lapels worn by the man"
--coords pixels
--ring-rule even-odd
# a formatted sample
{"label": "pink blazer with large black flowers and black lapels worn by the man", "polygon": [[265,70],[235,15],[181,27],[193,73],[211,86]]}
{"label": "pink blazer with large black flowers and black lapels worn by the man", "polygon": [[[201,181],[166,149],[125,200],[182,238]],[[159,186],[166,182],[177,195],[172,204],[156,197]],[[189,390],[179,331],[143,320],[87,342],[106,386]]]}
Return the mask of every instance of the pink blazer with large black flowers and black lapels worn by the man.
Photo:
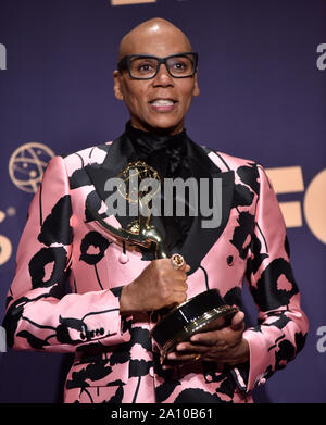
{"label": "pink blazer with large black flowers and black lapels worn by the man", "polygon": [[106,216],[104,203],[104,182],[127,163],[117,139],[49,162],[8,293],[3,326],[10,347],[75,353],[65,402],[250,402],[251,390],[302,349],[308,318],[271,182],[252,161],[196,149],[197,158],[210,162],[211,176],[222,178],[223,212],[214,229],[195,218],[180,250],[191,266],[187,295],[216,288],[241,308],[246,278],[258,308],[258,325],[243,334],[250,361],[222,372],[200,361],[163,370],[149,314],[120,315],[123,286],[151,258],[117,243],[86,208],[115,227],[125,225]]}

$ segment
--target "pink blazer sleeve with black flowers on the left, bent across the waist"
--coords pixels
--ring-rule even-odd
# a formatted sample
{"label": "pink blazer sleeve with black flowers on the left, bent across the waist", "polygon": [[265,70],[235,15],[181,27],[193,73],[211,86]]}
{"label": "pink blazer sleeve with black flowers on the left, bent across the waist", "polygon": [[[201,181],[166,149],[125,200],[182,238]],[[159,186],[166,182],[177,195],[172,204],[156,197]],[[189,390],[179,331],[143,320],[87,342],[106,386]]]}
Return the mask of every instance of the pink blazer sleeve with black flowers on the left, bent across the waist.
{"label": "pink blazer sleeve with black flowers on the left, bent across the waist", "polygon": [[130,339],[120,316],[118,288],[67,293],[74,214],[64,161],[54,157],[29,209],[3,327],[18,350],[73,352],[80,345]]}

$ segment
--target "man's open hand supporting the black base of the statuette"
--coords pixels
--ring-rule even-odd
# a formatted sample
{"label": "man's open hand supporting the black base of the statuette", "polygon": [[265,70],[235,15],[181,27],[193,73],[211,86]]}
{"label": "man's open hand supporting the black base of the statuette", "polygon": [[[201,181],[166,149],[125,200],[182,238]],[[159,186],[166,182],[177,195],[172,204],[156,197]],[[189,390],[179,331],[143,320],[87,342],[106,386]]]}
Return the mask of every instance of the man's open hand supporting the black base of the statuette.
{"label": "man's open hand supporting the black base of the statuette", "polygon": [[189,342],[179,343],[176,351],[167,354],[163,367],[203,360],[217,362],[222,370],[223,364],[235,366],[247,362],[249,346],[247,340],[242,338],[243,318],[244,313],[239,311],[233,317],[229,326],[193,335]]}

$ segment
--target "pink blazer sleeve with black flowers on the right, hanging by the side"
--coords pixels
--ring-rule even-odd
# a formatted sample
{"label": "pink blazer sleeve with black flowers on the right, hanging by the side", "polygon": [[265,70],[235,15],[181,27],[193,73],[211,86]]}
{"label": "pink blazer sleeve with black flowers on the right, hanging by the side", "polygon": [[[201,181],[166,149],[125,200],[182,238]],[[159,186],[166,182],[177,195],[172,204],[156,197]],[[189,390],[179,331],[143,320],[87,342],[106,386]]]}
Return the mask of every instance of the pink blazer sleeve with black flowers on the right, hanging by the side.
{"label": "pink blazer sleeve with black flowers on the right, hanging by the side", "polygon": [[294,359],[309,329],[289,262],[283,214],[264,168],[258,165],[258,171],[260,191],[246,276],[259,316],[258,326],[243,333],[250,349],[249,370],[242,379],[246,391]]}

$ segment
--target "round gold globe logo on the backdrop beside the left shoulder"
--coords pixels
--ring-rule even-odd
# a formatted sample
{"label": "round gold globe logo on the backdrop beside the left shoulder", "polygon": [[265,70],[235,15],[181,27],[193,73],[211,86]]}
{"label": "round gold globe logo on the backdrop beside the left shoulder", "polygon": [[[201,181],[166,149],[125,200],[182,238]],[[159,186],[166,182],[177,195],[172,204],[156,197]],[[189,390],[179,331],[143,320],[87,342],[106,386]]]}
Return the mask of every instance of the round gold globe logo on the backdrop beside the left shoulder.
{"label": "round gold globe logo on the backdrop beside the left shoulder", "polygon": [[35,193],[53,151],[42,143],[30,142],[18,147],[9,160],[9,175],[21,190]]}

